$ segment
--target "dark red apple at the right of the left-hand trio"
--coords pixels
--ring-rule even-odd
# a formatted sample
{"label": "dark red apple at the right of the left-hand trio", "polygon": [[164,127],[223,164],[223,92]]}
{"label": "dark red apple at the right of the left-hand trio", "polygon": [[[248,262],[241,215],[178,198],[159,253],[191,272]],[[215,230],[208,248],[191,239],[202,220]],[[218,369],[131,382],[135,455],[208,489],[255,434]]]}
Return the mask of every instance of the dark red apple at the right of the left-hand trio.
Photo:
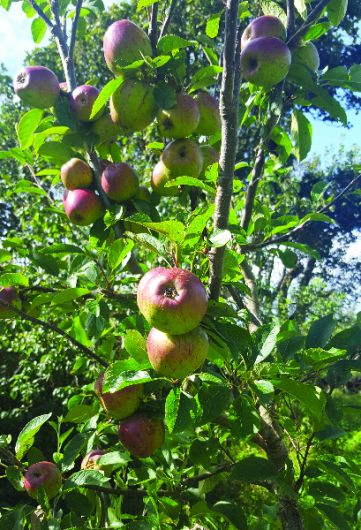
{"label": "dark red apple at the right of the left-hand trio", "polygon": [[101,176],[101,185],[107,196],[116,202],[127,201],[137,193],[139,178],[125,162],[107,166]]}

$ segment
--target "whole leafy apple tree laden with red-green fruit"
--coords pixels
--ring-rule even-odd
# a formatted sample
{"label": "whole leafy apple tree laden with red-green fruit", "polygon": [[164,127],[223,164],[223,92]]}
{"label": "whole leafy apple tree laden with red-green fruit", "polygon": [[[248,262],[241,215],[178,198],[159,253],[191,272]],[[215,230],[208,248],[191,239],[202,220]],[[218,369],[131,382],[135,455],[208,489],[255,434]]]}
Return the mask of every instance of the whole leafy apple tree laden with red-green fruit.
{"label": "whole leafy apple tree laden with red-green fruit", "polygon": [[307,211],[294,199],[306,109],[347,125],[335,87],[361,89],[361,65],[328,68],[317,50],[347,1],[195,6],[127,6],[96,43],[109,81],[95,86],[76,57],[102,2],[22,3],[63,71],[14,80],[18,145],[0,158],[31,197],[31,244],[2,241],[0,318],[25,343],[36,328],[67,344],[79,379],[60,413],[49,400],[1,435],[16,502],[0,528],[359,524],[338,393],[360,370],[360,315],[342,328],[325,307],[304,325],[273,303],[267,265],[317,262],[299,235],[359,194],[354,164],[337,194],[316,182]]}

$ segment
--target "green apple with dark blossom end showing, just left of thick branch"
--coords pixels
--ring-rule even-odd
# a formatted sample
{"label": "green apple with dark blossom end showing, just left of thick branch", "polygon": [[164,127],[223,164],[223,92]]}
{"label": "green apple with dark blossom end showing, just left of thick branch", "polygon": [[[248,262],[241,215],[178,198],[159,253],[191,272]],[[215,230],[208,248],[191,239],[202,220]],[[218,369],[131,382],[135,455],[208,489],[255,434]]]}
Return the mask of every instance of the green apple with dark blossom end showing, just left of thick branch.
{"label": "green apple with dark blossom end showing, just left of thick branch", "polygon": [[162,153],[161,161],[171,180],[177,177],[198,178],[203,167],[199,145],[188,138],[170,142]]}

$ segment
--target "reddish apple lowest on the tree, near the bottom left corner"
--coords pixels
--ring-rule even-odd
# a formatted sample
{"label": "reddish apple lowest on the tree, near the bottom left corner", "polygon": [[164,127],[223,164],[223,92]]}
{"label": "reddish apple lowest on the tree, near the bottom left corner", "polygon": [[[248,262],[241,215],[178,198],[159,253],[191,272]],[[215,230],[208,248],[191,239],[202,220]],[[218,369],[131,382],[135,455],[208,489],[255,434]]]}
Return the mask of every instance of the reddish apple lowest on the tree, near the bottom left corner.
{"label": "reddish apple lowest on the tree, near the bottom left corner", "polygon": [[43,488],[49,499],[55,497],[61,486],[61,473],[52,462],[32,464],[24,475],[24,488],[33,499],[37,499],[38,491]]}

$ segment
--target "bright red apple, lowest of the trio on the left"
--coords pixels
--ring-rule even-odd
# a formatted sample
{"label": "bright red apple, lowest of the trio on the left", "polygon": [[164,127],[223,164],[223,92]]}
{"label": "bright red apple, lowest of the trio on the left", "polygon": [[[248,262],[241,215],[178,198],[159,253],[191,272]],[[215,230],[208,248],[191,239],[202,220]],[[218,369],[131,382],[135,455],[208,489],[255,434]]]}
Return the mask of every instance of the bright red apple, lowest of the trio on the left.
{"label": "bright red apple, lowest of the trio on the left", "polygon": [[100,198],[91,190],[65,190],[63,205],[69,221],[79,226],[91,225],[104,215]]}

